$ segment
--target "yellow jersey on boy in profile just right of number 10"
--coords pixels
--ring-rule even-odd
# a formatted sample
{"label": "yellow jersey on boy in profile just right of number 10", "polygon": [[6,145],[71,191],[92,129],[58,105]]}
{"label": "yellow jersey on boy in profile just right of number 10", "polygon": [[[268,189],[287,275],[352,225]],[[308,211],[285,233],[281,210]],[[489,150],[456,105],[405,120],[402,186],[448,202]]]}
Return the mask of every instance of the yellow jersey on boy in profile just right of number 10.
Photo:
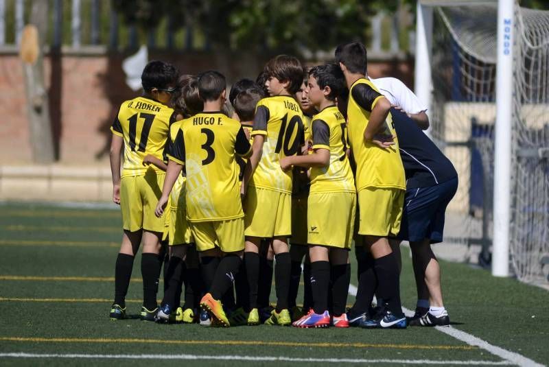
{"label": "yellow jersey on boy in profile just right of number 10", "polygon": [[312,118],[313,149],[327,149],[327,167],[311,168],[311,193],[355,192],[355,179],[347,157],[347,123],[336,106]]}

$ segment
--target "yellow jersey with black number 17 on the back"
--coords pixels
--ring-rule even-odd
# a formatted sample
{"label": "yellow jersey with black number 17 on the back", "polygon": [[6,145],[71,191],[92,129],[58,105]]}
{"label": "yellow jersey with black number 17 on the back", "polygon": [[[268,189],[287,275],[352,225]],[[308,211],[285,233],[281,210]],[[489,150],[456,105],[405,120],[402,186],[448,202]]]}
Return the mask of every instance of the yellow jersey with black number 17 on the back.
{"label": "yellow jersey with black number 17 on the back", "polygon": [[144,174],[147,169],[160,170],[154,165],[143,166],[143,158],[151,154],[166,161],[165,146],[174,110],[147,97],[137,97],[120,106],[110,130],[124,138],[125,174]]}

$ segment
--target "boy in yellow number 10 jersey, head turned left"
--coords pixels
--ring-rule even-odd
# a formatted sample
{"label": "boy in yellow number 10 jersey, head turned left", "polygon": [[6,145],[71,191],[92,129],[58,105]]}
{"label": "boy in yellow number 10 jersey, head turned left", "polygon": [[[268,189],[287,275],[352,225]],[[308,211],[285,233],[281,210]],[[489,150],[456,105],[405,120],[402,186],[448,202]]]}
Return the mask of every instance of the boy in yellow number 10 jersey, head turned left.
{"label": "boy in yellow number 10 jersey, head turned left", "polygon": [[[303,145],[303,113],[293,95],[303,83],[303,67],[294,57],[279,55],[266,65],[265,83],[270,97],[257,104],[253,123],[253,155],[242,180],[246,216],[246,272],[250,307],[257,308],[259,246],[272,238],[277,307],[267,324],[290,325],[288,292],[291,259],[288,236],[292,234],[292,172],[283,172],[280,158],[293,156]],[[249,185],[248,185],[249,184]]]}

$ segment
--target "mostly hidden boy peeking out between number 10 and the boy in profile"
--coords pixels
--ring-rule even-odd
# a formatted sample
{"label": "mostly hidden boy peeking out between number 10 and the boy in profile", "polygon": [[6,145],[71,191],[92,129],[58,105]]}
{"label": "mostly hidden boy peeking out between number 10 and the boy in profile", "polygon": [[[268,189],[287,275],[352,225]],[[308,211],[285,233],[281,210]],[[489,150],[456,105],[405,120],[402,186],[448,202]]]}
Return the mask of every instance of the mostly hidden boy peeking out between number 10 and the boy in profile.
{"label": "mostly hidden boy peeking out between number 10 and the boy in profile", "polygon": [[[296,101],[303,111],[303,130],[305,145],[301,154],[312,153],[311,117],[316,113],[316,108],[309,101],[305,89],[307,88],[309,74],[305,73],[303,84],[296,93]],[[292,238],[290,238],[290,256],[292,257],[292,269],[290,271],[290,295],[288,304],[292,321],[299,320],[304,313],[308,313],[312,307],[311,296],[311,263],[307,246],[307,197],[309,196],[309,170],[303,167],[294,167],[292,182]],[[303,259],[305,262],[303,263]],[[303,263],[303,309],[296,306],[299,281],[301,280],[301,263]]]}

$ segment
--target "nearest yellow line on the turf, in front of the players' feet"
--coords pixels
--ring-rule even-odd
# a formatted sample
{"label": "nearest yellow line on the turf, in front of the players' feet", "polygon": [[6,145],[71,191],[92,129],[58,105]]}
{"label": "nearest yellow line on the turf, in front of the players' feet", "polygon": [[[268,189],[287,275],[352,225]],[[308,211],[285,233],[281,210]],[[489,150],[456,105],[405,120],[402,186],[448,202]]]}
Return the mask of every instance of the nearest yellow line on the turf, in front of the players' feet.
{"label": "nearest yellow line on the turf, in front of the players' feet", "polygon": [[371,343],[307,343],[307,342],[264,342],[260,340],[157,340],[157,339],[113,339],[113,338],[18,338],[0,337],[2,342],[47,342],[47,343],[143,343],[143,344],[191,344],[191,345],[250,345],[250,346],[300,346],[320,348],[393,348],[393,349],[478,349],[478,346],[422,345],[422,344],[371,344]]}

